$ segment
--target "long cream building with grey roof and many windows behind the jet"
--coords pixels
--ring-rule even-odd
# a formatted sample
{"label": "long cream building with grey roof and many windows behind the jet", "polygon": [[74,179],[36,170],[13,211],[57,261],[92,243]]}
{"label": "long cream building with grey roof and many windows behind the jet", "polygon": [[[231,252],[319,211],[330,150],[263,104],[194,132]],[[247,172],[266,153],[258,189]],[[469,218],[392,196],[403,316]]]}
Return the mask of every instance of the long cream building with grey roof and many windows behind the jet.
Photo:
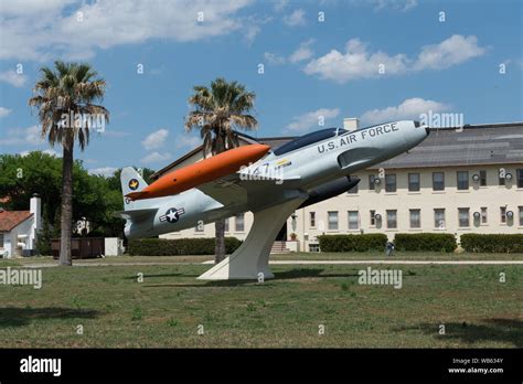
{"label": "long cream building with grey roof and many windows behind the jet", "polygon": [[[344,119],[356,129],[356,119]],[[241,145],[277,148],[292,138],[241,135]],[[203,158],[195,148],[160,170],[160,177]],[[318,235],[385,233],[523,233],[523,124],[466,126],[434,130],[408,153],[359,174],[353,190],[299,209],[277,236],[281,247],[318,250]],[[252,213],[231,217],[226,236],[245,238]],[[162,235],[213,237],[214,224]],[[289,242],[296,237],[297,242]]]}

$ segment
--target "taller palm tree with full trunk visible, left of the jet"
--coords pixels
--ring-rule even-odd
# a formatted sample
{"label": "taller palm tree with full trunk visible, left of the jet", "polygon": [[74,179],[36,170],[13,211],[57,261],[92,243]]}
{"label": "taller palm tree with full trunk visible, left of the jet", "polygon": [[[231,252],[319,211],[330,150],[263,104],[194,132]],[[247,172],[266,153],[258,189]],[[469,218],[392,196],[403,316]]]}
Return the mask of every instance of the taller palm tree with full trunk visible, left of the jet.
{"label": "taller palm tree with full trunk visible, left of the jet", "polygon": [[[103,99],[106,82],[97,77],[89,64],[54,62],[54,70],[40,68],[41,78],[29,99],[39,109],[42,137],[51,146],[63,147],[60,265],[72,265],[71,233],[73,225],[73,148],[78,140],[81,150],[89,142],[93,121],[109,121],[109,111],[92,104]],[[96,120],[95,120],[96,119]]]}

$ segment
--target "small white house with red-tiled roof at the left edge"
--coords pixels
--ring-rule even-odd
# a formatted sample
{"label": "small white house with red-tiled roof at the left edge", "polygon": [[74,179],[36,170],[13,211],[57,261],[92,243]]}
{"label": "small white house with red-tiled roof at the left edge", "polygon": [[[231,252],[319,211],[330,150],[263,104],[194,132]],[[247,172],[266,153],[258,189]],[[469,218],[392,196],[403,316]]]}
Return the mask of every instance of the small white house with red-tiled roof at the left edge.
{"label": "small white house with red-tiled roof at the left edge", "polygon": [[36,234],[42,226],[42,203],[38,195],[29,211],[6,211],[0,207],[0,256],[12,258],[35,248]]}

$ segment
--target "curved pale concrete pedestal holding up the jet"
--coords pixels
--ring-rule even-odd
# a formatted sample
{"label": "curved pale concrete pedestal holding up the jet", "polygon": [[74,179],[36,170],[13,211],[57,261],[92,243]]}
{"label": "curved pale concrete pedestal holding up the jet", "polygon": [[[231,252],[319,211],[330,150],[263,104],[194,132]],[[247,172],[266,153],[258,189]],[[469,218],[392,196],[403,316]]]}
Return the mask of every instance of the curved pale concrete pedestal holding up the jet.
{"label": "curved pale concrete pedestal holding up the jet", "polygon": [[254,223],[245,242],[231,256],[199,277],[200,280],[274,278],[269,268],[273,243],[290,214],[305,201],[295,199],[253,212]]}

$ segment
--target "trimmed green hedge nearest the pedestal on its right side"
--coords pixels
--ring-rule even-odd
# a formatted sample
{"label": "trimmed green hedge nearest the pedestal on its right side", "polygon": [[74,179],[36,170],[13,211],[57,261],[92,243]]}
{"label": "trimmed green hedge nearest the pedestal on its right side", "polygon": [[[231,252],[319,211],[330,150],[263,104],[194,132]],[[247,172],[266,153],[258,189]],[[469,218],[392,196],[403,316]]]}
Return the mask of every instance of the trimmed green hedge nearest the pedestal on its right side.
{"label": "trimmed green hedge nearest the pedestal on its right side", "polygon": [[321,252],[367,252],[383,250],[387,236],[383,233],[363,235],[321,235],[318,236]]}

